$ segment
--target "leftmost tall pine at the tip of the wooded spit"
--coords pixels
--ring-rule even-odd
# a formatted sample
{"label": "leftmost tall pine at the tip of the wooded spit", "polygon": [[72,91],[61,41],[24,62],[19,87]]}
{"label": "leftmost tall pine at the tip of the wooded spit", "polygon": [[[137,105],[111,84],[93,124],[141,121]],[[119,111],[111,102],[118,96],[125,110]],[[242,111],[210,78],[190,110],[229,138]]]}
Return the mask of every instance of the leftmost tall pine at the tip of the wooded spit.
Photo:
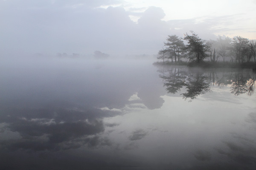
{"label": "leftmost tall pine at the tip of the wooded spit", "polygon": [[184,43],[177,35],[168,35],[166,39],[167,42],[164,43],[165,46],[168,46],[167,49],[170,53],[170,58],[174,56],[175,62],[180,61],[180,53],[182,52],[182,48],[184,47]]}

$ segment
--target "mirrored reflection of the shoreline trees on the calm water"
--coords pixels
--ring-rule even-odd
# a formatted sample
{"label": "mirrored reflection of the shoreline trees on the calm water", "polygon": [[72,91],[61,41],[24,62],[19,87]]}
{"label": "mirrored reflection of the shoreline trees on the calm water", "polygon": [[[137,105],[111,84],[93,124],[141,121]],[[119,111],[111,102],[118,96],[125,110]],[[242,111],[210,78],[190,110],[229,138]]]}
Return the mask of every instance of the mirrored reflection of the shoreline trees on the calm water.
{"label": "mirrored reflection of the shoreline trees on the calm water", "polygon": [[181,88],[186,88],[181,93],[183,99],[191,102],[197,96],[211,91],[212,86],[228,86],[230,92],[236,96],[247,93],[251,96],[254,92],[256,74],[250,70],[195,70],[182,67],[171,67],[158,70],[159,77],[163,79],[166,91],[176,94]]}

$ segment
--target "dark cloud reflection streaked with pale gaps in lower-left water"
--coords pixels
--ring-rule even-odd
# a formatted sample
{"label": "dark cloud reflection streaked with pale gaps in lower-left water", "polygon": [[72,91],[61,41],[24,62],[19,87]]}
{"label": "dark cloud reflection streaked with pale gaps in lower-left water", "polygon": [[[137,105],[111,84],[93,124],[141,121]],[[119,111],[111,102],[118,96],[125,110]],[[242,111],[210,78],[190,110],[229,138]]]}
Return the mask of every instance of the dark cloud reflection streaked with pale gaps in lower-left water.
{"label": "dark cloud reflection streaked with pale gaps in lower-left water", "polygon": [[[67,150],[84,145],[89,147],[111,145],[108,139],[98,136],[105,131],[101,116],[96,113],[100,112],[98,109],[94,110],[96,114],[87,114],[86,111],[77,111],[77,109],[56,108],[6,108],[5,112],[12,115],[2,116],[1,122],[4,123],[1,125],[4,126],[1,127],[3,140],[0,144],[8,150]],[[5,137],[5,131],[15,134],[9,139]],[[20,136],[17,137],[16,133]]]}

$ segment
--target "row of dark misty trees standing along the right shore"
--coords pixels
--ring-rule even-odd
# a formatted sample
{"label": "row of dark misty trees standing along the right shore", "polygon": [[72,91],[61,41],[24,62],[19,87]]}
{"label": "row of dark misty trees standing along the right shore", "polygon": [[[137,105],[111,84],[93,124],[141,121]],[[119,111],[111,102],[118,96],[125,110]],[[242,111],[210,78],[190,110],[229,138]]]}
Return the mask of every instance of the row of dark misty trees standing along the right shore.
{"label": "row of dark misty trees standing along the right shore", "polygon": [[[217,40],[203,40],[198,34],[190,31],[183,38],[168,35],[165,48],[158,52],[157,59],[163,62],[203,62],[208,59],[212,64],[220,59],[230,63],[254,62],[256,65],[256,41],[236,36],[218,37]],[[183,40],[187,42],[185,45]]]}

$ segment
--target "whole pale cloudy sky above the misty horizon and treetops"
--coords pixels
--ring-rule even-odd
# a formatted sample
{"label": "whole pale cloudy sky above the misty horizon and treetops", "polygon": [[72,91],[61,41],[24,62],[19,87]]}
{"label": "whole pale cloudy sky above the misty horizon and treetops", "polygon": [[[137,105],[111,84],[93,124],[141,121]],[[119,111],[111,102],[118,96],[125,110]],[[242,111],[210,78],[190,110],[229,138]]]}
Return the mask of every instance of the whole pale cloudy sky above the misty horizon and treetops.
{"label": "whole pale cloudy sky above the misty horizon and treetops", "polygon": [[194,31],[256,39],[256,0],[0,0],[0,54],[157,54]]}

